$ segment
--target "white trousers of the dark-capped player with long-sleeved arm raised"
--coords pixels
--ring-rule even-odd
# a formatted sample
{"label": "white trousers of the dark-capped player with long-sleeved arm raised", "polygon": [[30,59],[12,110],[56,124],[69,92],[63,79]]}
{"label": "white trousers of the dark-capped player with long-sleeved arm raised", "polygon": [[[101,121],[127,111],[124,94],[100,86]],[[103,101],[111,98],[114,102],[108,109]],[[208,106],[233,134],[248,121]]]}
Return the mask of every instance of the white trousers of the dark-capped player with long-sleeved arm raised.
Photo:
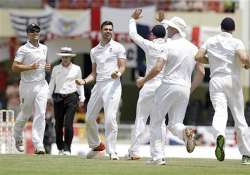
{"label": "white trousers of the dark-capped player with long-sleeved arm raised", "polygon": [[[131,146],[128,150],[131,155],[139,155],[139,148],[141,145],[141,139],[145,132],[146,122],[148,116],[152,112],[154,104],[154,95],[156,89],[161,85],[161,79],[153,79],[148,81],[140,90],[139,98],[136,106],[136,120],[135,126],[131,134]],[[163,145],[166,142],[166,125],[165,120],[162,122],[162,134],[165,134],[163,137]],[[163,146],[164,147],[164,146]]]}

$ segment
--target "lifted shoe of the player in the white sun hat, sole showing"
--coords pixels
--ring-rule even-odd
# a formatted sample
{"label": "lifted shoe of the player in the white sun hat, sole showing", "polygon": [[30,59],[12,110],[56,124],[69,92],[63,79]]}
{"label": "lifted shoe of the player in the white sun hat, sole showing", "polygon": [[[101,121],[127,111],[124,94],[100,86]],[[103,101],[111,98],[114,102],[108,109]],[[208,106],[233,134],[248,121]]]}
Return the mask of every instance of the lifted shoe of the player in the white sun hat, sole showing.
{"label": "lifted shoe of the player in the white sun hat, sole showing", "polygon": [[184,129],[184,142],[186,145],[187,152],[191,153],[195,148],[195,134],[192,128]]}

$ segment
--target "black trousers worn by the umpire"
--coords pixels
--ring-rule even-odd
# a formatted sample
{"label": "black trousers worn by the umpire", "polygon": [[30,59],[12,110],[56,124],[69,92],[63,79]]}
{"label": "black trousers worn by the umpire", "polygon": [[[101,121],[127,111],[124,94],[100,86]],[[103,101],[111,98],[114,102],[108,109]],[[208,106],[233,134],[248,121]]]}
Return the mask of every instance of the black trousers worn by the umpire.
{"label": "black trousers worn by the umpire", "polygon": [[53,94],[56,145],[58,150],[71,151],[74,136],[73,121],[78,104],[78,94]]}

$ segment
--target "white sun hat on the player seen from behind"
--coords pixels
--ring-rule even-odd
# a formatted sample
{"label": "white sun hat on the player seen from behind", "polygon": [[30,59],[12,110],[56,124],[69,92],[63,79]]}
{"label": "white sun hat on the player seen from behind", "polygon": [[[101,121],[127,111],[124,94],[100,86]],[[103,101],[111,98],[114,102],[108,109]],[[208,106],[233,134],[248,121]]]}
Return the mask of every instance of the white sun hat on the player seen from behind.
{"label": "white sun hat on the player seen from behind", "polygon": [[182,37],[186,36],[185,30],[186,30],[187,24],[182,18],[175,16],[171,18],[170,20],[164,20],[163,24],[168,25],[178,30],[178,32],[180,33]]}

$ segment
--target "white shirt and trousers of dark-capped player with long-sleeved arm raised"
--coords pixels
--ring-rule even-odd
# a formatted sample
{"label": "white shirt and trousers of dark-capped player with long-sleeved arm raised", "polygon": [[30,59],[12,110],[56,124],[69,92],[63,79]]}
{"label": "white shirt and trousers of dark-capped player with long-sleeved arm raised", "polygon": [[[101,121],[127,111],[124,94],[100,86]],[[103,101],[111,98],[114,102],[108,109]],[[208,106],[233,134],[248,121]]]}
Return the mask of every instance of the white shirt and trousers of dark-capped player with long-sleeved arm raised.
{"label": "white shirt and trousers of dark-capped player with long-sleeved arm raised", "polygon": [[[167,56],[167,45],[165,38],[146,40],[137,33],[136,21],[129,21],[129,35],[131,39],[139,45],[146,55],[146,74],[154,67],[159,57]],[[138,155],[142,135],[145,131],[146,122],[150,115],[154,102],[155,90],[160,86],[163,76],[163,70],[152,80],[146,82],[139,92],[139,98],[136,107],[135,126],[132,131],[131,147],[129,154]],[[166,134],[165,121],[162,124],[162,132]],[[163,140],[165,142],[165,139]]]}

